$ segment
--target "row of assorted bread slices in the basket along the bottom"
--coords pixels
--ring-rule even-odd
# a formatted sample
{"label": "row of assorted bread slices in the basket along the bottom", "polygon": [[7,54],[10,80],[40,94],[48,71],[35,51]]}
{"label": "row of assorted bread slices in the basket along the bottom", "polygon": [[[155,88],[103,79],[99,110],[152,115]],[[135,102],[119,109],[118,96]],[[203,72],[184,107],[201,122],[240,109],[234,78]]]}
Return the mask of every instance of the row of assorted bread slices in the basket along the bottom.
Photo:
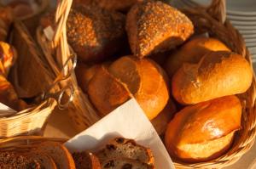
{"label": "row of assorted bread slices in the basket along the bottom", "polygon": [[3,169],[154,169],[154,156],[150,149],[134,140],[114,138],[95,154],[88,151],[70,154],[57,142],[44,142],[30,150],[0,151]]}

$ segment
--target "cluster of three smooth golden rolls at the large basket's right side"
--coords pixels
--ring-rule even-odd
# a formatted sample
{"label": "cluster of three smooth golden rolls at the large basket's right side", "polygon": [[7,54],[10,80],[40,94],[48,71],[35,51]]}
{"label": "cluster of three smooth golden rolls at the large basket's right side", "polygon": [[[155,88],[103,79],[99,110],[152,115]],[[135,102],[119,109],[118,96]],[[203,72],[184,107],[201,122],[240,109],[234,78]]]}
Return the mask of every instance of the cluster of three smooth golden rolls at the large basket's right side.
{"label": "cluster of three smooth golden rolls at the large basket's right side", "polygon": [[173,97],[185,105],[166,129],[169,153],[190,162],[222,155],[241,128],[236,94],[251,86],[251,66],[217,39],[195,37],[169,56],[165,68]]}

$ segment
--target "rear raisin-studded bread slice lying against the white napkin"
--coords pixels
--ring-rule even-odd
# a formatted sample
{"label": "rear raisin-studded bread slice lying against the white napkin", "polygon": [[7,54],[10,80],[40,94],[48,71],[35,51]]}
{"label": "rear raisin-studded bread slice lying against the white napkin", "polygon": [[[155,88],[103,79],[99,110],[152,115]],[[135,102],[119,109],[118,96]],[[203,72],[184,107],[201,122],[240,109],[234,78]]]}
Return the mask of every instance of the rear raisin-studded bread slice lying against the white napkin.
{"label": "rear raisin-studded bread slice lying against the white napkin", "polygon": [[117,158],[129,158],[141,161],[148,165],[154,165],[154,156],[151,149],[135,143],[132,139],[114,138],[104,149],[96,153],[101,163]]}

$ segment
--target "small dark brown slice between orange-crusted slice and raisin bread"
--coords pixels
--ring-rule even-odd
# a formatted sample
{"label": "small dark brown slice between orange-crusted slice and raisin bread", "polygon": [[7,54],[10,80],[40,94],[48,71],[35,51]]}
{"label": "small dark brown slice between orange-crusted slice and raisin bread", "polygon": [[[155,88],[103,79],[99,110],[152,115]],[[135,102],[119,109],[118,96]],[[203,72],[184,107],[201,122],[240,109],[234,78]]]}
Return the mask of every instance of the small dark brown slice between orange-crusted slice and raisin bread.
{"label": "small dark brown slice between orange-crusted slice and raisin bread", "polygon": [[73,153],[73,160],[76,165],[76,169],[101,169],[101,163],[99,159],[86,151]]}

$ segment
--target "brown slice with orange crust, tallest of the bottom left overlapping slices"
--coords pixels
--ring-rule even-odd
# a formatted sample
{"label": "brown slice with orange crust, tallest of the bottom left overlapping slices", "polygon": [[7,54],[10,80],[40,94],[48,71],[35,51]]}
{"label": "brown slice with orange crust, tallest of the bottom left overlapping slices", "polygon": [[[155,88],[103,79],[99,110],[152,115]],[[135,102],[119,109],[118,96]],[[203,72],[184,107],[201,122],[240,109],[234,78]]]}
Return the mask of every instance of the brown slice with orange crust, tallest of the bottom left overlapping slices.
{"label": "brown slice with orange crust, tallest of the bottom left overlapping slices", "polygon": [[62,144],[55,142],[45,142],[38,146],[38,151],[49,155],[55,161],[57,168],[75,169],[72,155]]}

